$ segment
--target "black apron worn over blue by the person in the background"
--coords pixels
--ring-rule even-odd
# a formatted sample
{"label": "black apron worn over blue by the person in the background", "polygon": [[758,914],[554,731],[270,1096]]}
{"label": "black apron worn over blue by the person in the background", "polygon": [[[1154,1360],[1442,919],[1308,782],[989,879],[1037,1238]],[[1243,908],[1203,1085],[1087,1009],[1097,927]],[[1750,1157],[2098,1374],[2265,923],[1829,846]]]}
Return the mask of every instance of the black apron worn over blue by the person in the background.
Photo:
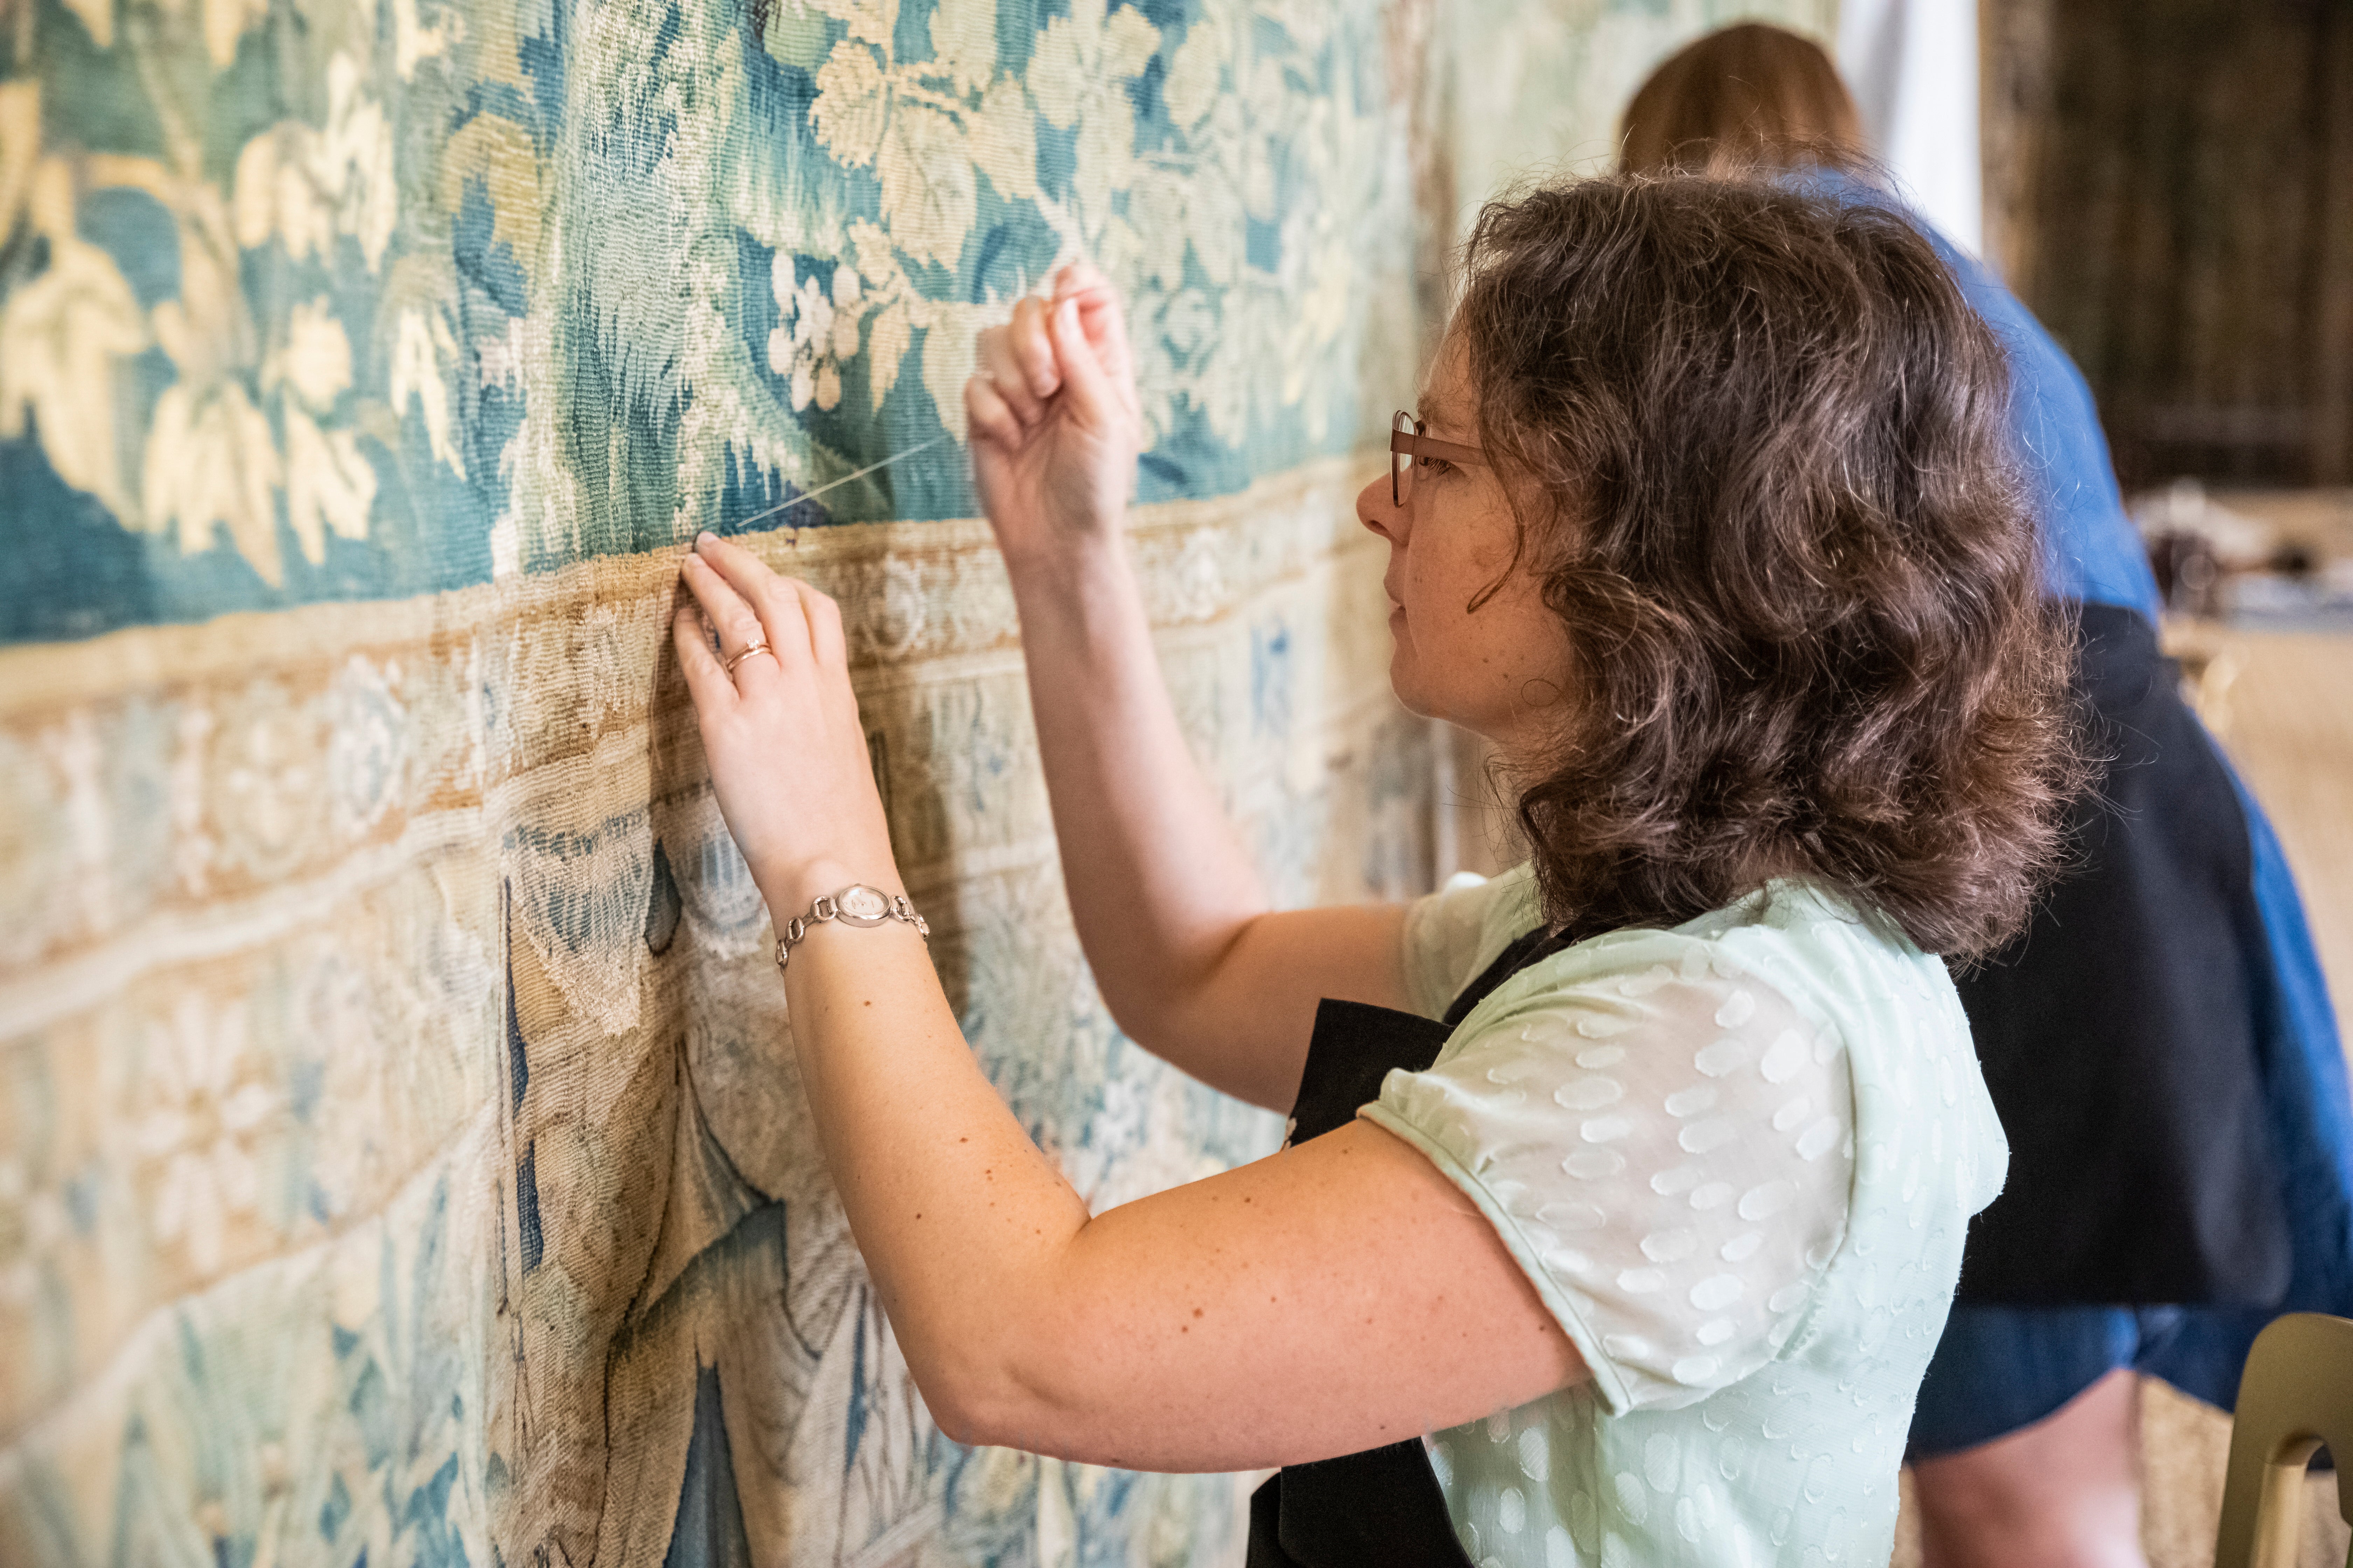
{"label": "black apron worn over blue by the person in the background", "polygon": [[2009,1135],[1958,1300],[2266,1307],[2292,1248],[2247,816],[2144,616],[2085,604],[2078,651],[2111,757],[2073,813],[2078,865],[2026,936],[1953,976]]}

